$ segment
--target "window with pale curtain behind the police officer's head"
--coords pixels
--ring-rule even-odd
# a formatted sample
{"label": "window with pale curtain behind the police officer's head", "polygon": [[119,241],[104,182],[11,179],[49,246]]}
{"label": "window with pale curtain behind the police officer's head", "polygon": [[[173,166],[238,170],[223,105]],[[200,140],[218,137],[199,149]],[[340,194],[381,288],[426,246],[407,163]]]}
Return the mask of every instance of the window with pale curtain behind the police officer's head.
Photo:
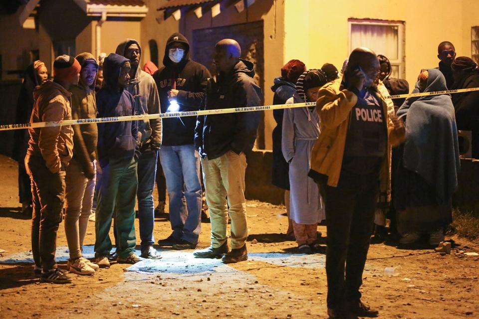
{"label": "window with pale curtain behind the police officer's head", "polygon": [[391,62],[391,77],[404,79],[404,22],[370,19],[348,19],[349,52],[365,46],[385,55]]}

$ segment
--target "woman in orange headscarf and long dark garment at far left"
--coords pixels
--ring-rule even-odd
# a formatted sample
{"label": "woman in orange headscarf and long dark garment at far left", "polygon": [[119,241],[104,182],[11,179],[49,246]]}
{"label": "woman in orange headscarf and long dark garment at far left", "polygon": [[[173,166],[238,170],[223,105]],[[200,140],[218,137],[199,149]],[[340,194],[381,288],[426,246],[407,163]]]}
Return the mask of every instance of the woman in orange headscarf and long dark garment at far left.
{"label": "woman in orange headscarf and long dark garment at far left", "polygon": [[[33,109],[33,90],[48,79],[45,63],[36,60],[28,66],[20,88],[16,105],[16,124],[30,122]],[[26,173],[24,159],[28,149],[28,130],[16,130],[14,133],[13,159],[18,161],[18,197],[21,212],[31,216],[31,185],[30,176]]]}

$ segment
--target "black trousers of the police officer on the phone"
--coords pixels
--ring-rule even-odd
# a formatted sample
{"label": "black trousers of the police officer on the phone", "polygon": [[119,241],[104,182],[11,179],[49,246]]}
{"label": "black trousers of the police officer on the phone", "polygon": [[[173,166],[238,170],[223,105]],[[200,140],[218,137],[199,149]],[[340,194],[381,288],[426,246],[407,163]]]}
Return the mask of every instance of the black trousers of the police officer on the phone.
{"label": "black trousers of the police officer on the phone", "polygon": [[326,205],[328,308],[359,301],[379,193],[379,172],[343,174],[337,187],[320,183]]}

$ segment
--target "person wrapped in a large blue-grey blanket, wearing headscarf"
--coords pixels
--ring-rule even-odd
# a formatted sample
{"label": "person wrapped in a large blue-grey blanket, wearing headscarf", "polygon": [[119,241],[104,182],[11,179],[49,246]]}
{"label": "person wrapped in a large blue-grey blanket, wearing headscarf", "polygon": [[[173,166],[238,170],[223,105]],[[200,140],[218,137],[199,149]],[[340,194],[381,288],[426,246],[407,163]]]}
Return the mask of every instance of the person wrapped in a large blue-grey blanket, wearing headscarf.
{"label": "person wrapped in a large blue-grey blanket, wearing headscarf", "polygon": [[[436,69],[423,70],[413,93],[447,90]],[[399,147],[395,198],[400,244],[412,244],[429,234],[429,244],[444,240],[452,222],[452,195],[460,169],[456,118],[451,96],[408,98],[397,115],[406,122],[406,140]]]}

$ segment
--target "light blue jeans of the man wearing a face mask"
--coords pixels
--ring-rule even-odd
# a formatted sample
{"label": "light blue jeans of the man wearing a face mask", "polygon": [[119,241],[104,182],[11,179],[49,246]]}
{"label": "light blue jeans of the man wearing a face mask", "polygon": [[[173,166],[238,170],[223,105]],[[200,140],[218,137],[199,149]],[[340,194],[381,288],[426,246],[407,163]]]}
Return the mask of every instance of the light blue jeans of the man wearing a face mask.
{"label": "light blue jeans of the man wearing a face mask", "polygon": [[[173,237],[197,244],[201,231],[200,156],[193,144],[162,146],[160,160],[170,199]],[[187,210],[182,209],[183,197]]]}

